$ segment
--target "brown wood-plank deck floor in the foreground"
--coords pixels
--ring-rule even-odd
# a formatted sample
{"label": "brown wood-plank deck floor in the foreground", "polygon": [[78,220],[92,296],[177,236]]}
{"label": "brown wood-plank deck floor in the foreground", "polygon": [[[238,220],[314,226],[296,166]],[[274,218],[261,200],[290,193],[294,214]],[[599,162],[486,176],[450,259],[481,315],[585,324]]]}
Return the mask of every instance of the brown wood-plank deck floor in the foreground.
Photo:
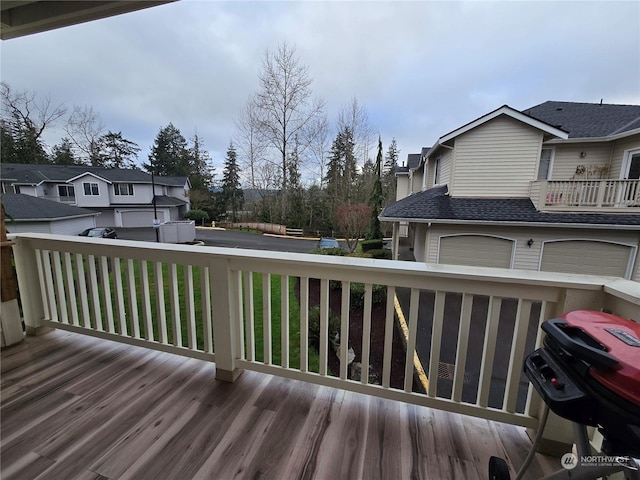
{"label": "brown wood-plank deck floor in the foreground", "polygon": [[[9,479],[475,479],[523,429],[53,331],[2,352]],[[538,455],[525,478],[559,461]]]}

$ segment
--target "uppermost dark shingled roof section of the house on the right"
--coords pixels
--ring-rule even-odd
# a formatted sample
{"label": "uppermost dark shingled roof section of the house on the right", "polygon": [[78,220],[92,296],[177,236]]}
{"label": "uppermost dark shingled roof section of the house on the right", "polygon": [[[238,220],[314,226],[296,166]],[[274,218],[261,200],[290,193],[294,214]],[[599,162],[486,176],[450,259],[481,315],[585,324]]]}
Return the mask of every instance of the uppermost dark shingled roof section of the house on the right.
{"label": "uppermost dark shingled roof section of the house on the right", "polygon": [[569,138],[598,138],[640,129],[640,105],[548,101],[523,110],[569,132]]}

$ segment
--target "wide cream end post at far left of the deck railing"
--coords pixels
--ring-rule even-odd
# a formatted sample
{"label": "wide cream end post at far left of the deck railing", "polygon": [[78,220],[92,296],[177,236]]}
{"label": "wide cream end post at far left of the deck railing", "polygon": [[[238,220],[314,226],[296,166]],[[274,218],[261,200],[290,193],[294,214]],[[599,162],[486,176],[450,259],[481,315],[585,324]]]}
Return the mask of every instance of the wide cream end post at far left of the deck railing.
{"label": "wide cream end post at far left of the deck railing", "polygon": [[[26,332],[27,335],[38,335],[44,331],[42,319],[45,309],[41,291],[43,286],[37,281],[39,275],[36,252],[30,247],[28,239],[17,237],[13,255]],[[38,286],[34,288],[34,284]]]}

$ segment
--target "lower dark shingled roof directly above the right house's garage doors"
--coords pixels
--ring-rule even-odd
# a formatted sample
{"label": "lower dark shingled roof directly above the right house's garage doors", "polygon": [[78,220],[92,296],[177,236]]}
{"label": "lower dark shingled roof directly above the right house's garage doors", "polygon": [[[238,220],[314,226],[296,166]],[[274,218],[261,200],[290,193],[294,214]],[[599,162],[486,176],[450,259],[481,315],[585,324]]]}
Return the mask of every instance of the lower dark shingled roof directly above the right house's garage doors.
{"label": "lower dark shingled roof directly above the right house's garage doors", "polygon": [[528,198],[453,198],[447,186],[415,193],[387,206],[383,221],[432,223],[536,224],[540,226],[632,227],[640,230],[640,215],[543,213]]}

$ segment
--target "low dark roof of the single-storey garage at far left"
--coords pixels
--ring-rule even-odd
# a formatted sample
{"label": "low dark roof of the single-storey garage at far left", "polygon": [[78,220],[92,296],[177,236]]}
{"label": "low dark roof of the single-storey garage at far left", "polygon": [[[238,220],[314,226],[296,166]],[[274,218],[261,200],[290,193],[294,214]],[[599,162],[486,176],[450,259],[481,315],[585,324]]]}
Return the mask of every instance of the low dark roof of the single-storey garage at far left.
{"label": "low dark roof of the single-storey garage at far left", "polygon": [[64,218],[87,217],[98,212],[74,207],[65,203],[45,200],[24,194],[3,195],[2,203],[7,213],[7,222],[33,222],[37,220],[62,220]]}

